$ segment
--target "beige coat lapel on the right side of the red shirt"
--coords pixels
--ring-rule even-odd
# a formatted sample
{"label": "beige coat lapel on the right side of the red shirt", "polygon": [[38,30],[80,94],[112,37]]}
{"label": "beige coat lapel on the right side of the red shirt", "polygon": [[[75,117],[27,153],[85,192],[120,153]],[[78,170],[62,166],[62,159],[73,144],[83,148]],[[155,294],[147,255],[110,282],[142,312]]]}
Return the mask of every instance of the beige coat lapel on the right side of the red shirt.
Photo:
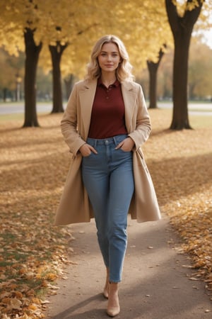
{"label": "beige coat lapel on the right side of the red shirt", "polygon": [[136,107],[136,91],[131,82],[122,82],[122,96],[124,99],[126,129],[127,132],[130,133],[135,129],[132,128],[131,119],[134,114],[134,108]]}

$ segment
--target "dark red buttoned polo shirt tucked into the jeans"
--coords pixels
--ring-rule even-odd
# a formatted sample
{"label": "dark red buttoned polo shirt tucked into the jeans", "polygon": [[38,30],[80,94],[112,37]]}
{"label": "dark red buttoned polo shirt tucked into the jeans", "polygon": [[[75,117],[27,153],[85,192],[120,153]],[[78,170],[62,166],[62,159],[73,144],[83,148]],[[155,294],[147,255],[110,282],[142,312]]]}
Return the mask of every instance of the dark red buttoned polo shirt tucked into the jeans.
{"label": "dark red buttoned polo shirt tucked into the jeans", "polygon": [[111,138],[126,133],[120,82],[116,81],[107,88],[101,79],[98,79],[88,137]]}

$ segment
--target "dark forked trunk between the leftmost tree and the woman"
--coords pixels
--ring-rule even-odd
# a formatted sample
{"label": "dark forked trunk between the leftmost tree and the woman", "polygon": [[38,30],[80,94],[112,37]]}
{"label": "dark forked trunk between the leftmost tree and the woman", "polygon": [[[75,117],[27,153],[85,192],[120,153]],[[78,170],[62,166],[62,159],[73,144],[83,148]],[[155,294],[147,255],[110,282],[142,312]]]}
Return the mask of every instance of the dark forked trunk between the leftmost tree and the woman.
{"label": "dark forked trunk between the leftmost tree and the woman", "polygon": [[60,61],[61,55],[64,52],[66,45],[61,45],[59,42],[57,45],[49,45],[49,50],[52,57],[52,73],[53,73],[53,108],[52,113],[64,112],[62,89],[61,89],[61,70]]}

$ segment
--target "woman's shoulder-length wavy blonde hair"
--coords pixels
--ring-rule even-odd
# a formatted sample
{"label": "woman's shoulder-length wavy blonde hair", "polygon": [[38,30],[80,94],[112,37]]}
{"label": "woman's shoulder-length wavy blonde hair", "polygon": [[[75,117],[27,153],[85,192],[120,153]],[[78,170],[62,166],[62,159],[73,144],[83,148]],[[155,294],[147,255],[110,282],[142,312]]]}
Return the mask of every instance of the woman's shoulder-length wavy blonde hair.
{"label": "woman's shoulder-length wavy blonde hair", "polygon": [[119,66],[116,69],[116,76],[119,82],[124,80],[133,81],[134,76],[131,74],[132,66],[129,63],[129,55],[126,52],[126,48],[122,40],[117,38],[115,35],[104,35],[100,38],[94,45],[93,50],[90,55],[90,62],[87,66],[87,74],[86,79],[97,79],[101,75],[101,69],[98,63],[98,56],[102,50],[102,46],[105,43],[114,43],[117,45],[119,49],[119,54],[121,57],[121,62],[119,62]]}

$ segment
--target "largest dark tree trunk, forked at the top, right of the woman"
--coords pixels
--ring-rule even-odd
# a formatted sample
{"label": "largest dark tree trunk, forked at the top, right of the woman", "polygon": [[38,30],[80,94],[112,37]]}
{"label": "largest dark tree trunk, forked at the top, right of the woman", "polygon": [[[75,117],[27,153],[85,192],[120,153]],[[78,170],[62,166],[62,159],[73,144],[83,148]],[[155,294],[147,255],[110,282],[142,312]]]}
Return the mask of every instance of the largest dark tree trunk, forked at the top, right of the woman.
{"label": "largest dark tree trunk, forked at the top, right of the woman", "polygon": [[[187,0],[191,3],[192,0]],[[192,11],[186,10],[184,16],[179,16],[177,8],[172,0],[165,0],[166,11],[172,34],[175,41],[174,66],[173,66],[173,113],[172,130],[182,130],[191,128],[188,115],[188,62],[189,45],[192,36],[192,30],[201,11],[201,0],[198,0],[199,6]]]}

